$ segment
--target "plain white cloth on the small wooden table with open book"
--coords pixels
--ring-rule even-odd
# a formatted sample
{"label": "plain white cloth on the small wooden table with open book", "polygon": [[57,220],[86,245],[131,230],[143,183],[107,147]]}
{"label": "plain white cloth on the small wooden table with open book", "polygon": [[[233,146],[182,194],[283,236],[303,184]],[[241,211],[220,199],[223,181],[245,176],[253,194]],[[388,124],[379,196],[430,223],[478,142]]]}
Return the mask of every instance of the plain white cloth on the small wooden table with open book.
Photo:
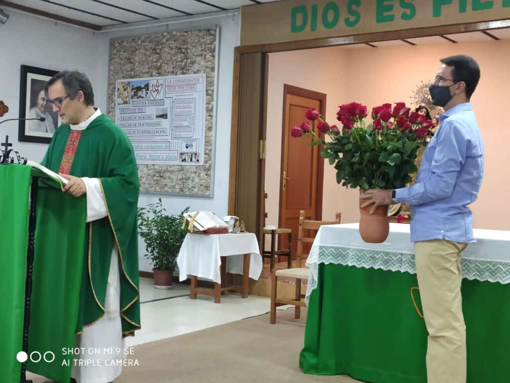
{"label": "plain white cloth on the small wooden table with open book", "polygon": [[226,258],[226,271],[243,274],[243,255],[250,254],[249,277],[259,279],[262,272],[262,257],[257,236],[242,234],[186,234],[177,256],[179,280],[189,275],[221,283],[221,256]]}

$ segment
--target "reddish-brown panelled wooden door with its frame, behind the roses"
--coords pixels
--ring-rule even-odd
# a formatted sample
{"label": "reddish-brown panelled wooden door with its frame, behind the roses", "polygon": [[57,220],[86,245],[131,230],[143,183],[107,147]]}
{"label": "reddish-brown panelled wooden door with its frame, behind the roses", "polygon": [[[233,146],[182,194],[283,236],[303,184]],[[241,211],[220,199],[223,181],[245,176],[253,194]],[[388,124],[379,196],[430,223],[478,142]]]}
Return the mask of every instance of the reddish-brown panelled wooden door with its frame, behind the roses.
{"label": "reddish-brown panelled wooden door with its frame, behind the roses", "polygon": [[[300,210],[305,211],[305,220],[322,218],[324,160],[319,154],[321,147],[312,147],[310,137],[293,138],[290,131],[293,126],[306,121],[308,108],[314,108],[324,115],[325,107],[324,93],[284,86],[279,227],[292,229],[293,259],[296,258]],[[318,132],[316,122],[309,123]],[[286,235],[280,238],[279,246],[288,249]],[[303,244],[303,254],[308,254],[310,247],[310,244]]]}

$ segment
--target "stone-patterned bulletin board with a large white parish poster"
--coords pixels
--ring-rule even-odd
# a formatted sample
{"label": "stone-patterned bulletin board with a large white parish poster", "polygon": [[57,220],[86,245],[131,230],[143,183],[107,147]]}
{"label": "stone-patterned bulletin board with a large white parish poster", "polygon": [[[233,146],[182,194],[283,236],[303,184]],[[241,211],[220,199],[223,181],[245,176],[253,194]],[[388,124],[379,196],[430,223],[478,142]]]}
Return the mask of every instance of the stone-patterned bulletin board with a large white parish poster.
{"label": "stone-patterned bulletin board with a large white parish poster", "polygon": [[133,143],[140,193],[213,197],[218,37],[110,41],[108,115]]}

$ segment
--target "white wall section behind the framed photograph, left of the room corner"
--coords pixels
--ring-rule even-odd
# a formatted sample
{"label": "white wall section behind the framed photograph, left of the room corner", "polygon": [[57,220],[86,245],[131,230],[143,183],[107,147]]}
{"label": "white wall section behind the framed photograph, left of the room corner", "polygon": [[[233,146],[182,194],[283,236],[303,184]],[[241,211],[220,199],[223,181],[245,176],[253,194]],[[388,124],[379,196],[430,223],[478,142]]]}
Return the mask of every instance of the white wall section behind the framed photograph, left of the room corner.
{"label": "white wall section behind the framed photograph, left of the room corner", "polygon": [[[0,25],[0,100],[9,107],[2,118],[19,117],[20,66],[31,65],[45,69],[78,69],[85,72],[96,92],[96,104],[106,105],[106,92],[99,87],[98,41],[105,37],[97,33],[70,27],[40,17],[6,10],[11,17]],[[9,135],[22,156],[42,160],[47,144],[18,142],[18,123],[0,125],[0,139]]]}

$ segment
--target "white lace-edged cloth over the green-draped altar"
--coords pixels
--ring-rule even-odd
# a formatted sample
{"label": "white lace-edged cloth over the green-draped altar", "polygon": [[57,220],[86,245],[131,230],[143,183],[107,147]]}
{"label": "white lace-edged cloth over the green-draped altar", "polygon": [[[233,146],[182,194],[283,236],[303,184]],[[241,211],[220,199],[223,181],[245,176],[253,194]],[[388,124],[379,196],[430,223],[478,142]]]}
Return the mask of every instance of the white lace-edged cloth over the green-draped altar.
{"label": "white lace-edged cloth over the green-draped altar", "polygon": [[[462,253],[463,278],[510,283],[510,231],[474,229],[476,243]],[[359,224],[321,226],[306,265],[310,268],[308,299],[317,287],[319,264],[381,269],[416,274],[410,225],[390,224],[390,234],[381,244],[362,240]]]}

